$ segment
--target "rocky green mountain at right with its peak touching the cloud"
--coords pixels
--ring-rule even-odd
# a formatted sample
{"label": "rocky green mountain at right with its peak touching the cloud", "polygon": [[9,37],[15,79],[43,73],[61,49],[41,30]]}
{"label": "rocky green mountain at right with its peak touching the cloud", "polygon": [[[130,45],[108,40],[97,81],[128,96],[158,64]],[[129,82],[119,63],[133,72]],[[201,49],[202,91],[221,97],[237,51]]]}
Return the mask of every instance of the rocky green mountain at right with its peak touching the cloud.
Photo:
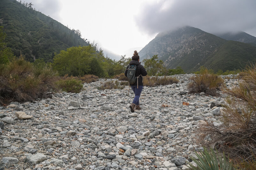
{"label": "rocky green mountain at right with its peak touching the cloud", "polygon": [[139,55],[141,59],[158,55],[167,68],[180,66],[187,73],[199,70],[200,66],[225,71],[241,69],[256,61],[256,48],[186,26],[159,33]]}

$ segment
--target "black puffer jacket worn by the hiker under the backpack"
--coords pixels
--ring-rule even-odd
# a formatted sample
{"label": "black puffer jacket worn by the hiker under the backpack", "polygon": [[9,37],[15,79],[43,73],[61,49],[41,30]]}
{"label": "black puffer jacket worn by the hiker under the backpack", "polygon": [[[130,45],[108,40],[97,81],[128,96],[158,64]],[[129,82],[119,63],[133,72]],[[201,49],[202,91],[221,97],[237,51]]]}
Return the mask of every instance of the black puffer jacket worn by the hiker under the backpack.
{"label": "black puffer jacket worn by the hiker under the backpack", "polygon": [[[137,65],[137,68],[136,68],[136,71],[135,71],[135,77],[138,77],[140,76],[140,74],[142,76],[147,76],[147,71],[145,70],[145,68],[140,64],[140,62],[138,60],[132,60],[129,65]],[[129,67],[129,65],[126,67],[126,70],[124,72],[124,75],[127,77],[127,69]],[[136,82],[133,84],[133,85],[137,85],[137,79],[136,79]],[[138,78],[138,85],[143,85],[143,82],[142,82],[142,77],[140,76]]]}

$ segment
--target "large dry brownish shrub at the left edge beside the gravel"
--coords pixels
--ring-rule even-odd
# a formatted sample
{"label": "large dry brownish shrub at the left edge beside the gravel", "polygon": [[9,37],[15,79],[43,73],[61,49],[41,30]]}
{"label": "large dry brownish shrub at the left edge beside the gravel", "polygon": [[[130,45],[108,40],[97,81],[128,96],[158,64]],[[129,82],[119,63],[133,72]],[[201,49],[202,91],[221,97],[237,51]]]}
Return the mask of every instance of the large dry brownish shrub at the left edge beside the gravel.
{"label": "large dry brownish shrub at the left edge beside the gravel", "polygon": [[0,96],[3,99],[29,101],[47,97],[55,89],[56,72],[51,68],[37,69],[23,55],[0,66]]}

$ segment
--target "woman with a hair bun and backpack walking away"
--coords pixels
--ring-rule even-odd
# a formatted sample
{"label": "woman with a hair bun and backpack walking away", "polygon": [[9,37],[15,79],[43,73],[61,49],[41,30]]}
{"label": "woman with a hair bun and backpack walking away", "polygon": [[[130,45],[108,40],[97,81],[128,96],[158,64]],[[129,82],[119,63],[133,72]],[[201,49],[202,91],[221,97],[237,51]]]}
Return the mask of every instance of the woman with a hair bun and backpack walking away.
{"label": "woman with a hair bun and backpack walking away", "polygon": [[[136,81],[133,84],[131,84],[129,81],[132,91],[135,94],[132,104],[129,106],[131,109],[131,112],[134,112],[134,109],[136,109],[136,110],[141,109],[139,99],[140,99],[140,93],[142,92],[142,89],[143,89],[143,82],[142,82],[143,77],[142,76],[147,76],[147,71],[140,63],[141,63],[140,56],[138,55],[137,51],[135,50],[133,53],[133,56],[132,56],[132,61],[129,63],[129,65],[127,66],[127,68],[124,72],[124,75],[127,77],[127,72],[129,71],[129,68],[136,66],[135,67]],[[129,79],[129,76],[128,76],[128,79]]]}

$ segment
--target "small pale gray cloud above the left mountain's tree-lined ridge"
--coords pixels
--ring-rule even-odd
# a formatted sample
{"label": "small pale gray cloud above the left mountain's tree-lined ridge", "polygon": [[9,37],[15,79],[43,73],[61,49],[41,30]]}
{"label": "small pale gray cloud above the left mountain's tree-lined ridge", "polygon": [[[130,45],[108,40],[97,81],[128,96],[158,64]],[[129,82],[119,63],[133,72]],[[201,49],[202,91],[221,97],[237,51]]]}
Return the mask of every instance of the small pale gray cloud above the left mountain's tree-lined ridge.
{"label": "small pale gray cloud above the left mountain's tree-lined ridge", "polygon": [[62,3],[60,0],[25,0],[27,3],[32,3],[33,8],[36,8],[36,11],[40,11],[44,13],[46,16],[50,16],[51,18],[61,22],[62,19],[60,17],[60,10],[62,8]]}

